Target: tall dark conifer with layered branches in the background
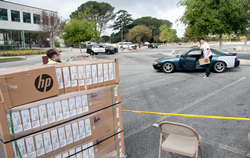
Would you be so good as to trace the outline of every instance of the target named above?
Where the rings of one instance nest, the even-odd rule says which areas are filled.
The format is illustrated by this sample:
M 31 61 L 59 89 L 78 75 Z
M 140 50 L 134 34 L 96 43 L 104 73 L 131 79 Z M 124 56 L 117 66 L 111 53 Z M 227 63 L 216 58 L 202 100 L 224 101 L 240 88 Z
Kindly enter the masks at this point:
M 113 30 L 120 30 L 121 41 L 124 38 L 124 35 L 128 33 L 128 26 L 134 21 L 126 10 L 119 10 L 116 12 L 118 17 L 116 18 L 114 25 L 112 26 Z

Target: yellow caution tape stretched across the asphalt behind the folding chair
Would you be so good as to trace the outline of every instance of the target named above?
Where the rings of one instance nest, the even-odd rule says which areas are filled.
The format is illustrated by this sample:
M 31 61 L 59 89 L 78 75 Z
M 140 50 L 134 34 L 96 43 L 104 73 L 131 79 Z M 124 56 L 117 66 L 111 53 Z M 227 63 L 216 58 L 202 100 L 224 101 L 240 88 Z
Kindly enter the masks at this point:
M 147 112 L 147 111 L 132 111 L 132 110 L 122 110 L 122 112 L 132 112 L 132 113 L 141 113 L 141 114 L 155 114 L 155 115 L 169 115 L 169 116 L 182 116 L 182 117 L 197 117 L 197 118 L 211 118 L 211 119 L 225 119 L 225 120 L 244 120 L 244 121 L 250 121 L 250 118 L 240 118 L 240 117 L 224 117 L 224 116 L 206 116 L 206 115 L 173 114 L 173 113 Z

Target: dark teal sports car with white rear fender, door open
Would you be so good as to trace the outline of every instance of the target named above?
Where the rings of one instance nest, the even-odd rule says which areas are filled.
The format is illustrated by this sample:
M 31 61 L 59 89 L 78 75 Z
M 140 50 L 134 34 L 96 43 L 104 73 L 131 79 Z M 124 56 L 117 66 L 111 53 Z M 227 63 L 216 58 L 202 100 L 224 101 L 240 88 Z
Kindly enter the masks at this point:
M 215 72 L 224 72 L 226 68 L 238 67 L 240 61 L 237 53 L 226 54 L 215 49 L 211 49 L 213 58 L 210 61 L 210 68 Z M 199 64 L 199 59 L 203 58 L 203 53 L 198 48 L 190 49 L 183 54 L 175 57 L 165 57 L 155 60 L 154 69 L 163 70 L 170 73 L 175 70 L 191 70 L 205 69 Z

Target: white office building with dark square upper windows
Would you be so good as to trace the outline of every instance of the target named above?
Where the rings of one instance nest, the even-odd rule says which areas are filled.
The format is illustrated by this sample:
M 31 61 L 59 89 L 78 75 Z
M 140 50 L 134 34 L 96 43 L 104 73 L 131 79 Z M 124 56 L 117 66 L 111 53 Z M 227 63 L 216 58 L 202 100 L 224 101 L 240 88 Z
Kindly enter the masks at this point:
M 0 49 L 42 46 L 41 41 L 31 36 L 38 31 L 39 15 L 43 10 L 55 12 L 0 0 Z

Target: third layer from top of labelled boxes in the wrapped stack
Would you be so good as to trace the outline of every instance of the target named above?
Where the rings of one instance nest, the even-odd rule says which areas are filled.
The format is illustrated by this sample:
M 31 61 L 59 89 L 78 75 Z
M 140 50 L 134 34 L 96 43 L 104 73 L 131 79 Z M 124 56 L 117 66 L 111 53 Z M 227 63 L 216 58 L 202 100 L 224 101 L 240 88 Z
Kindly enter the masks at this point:
M 118 114 L 115 110 L 117 108 L 119 108 Z M 120 132 L 123 131 L 121 121 L 121 104 L 119 104 L 87 117 L 19 138 L 16 142 L 23 157 L 31 155 L 33 155 L 32 157 L 53 157 L 68 149 L 72 150 L 76 146 L 83 145 L 85 142 L 95 142 L 93 145 L 99 144 L 98 148 L 101 150 L 105 146 L 101 148 L 100 141 L 112 137 L 116 133 L 119 133 L 117 140 L 121 137 Z M 111 140 L 114 141 L 114 137 Z M 0 146 L 4 149 L 4 152 L 1 153 L 3 157 L 18 156 L 14 142 L 5 144 L 0 142 Z

